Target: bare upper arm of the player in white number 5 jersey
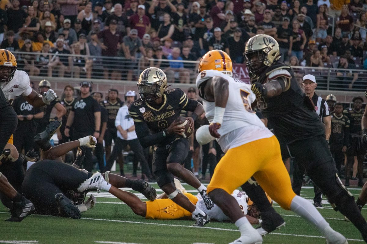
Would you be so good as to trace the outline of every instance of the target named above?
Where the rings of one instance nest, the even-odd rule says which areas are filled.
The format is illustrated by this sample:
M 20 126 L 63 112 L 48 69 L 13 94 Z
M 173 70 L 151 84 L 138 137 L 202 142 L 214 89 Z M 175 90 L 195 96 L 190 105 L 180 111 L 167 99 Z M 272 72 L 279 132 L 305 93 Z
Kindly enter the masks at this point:
M 228 80 L 221 76 L 214 76 L 211 80 L 211 90 L 214 95 L 216 107 L 225 108 L 228 101 Z

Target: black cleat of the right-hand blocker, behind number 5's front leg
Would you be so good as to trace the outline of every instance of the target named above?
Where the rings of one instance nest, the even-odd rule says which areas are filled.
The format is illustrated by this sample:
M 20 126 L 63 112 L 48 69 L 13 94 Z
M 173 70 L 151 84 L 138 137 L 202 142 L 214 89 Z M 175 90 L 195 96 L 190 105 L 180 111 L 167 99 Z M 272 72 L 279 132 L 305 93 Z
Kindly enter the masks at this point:
M 286 225 L 286 221 L 273 209 L 260 213 L 262 222 L 256 230 L 261 236 L 273 232 L 276 229 Z

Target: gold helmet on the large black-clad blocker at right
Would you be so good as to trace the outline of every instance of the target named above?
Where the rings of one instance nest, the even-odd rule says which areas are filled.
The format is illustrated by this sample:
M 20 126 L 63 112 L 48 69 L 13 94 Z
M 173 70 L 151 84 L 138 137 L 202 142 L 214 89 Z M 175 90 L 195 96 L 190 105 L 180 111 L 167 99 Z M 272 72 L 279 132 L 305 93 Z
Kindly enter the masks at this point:
M 260 75 L 280 58 L 279 44 L 270 35 L 255 35 L 248 40 L 243 55 L 250 76 Z

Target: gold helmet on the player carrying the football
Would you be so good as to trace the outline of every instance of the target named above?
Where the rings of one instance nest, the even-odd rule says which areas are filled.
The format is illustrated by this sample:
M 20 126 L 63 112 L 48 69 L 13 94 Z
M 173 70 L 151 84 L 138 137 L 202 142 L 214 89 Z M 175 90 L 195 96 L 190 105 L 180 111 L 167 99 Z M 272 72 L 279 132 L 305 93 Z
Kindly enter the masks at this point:
M 139 76 L 138 90 L 142 101 L 156 100 L 163 96 L 167 87 L 167 76 L 159 68 L 147 68 Z

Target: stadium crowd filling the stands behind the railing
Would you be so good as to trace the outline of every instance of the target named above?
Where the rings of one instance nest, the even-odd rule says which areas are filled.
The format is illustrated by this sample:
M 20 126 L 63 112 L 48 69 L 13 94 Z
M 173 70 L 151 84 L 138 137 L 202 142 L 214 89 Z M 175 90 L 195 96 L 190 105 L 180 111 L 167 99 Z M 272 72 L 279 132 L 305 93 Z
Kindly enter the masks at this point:
M 23 52 L 17 57 L 18 69 L 31 76 L 72 73 L 75 78 L 133 80 L 139 71 L 155 66 L 168 80 L 192 83 L 196 64 L 185 61 L 197 61 L 208 50 L 218 49 L 242 64 L 246 42 L 264 33 L 279 42 L 281 61 L 287 64 L 349 70 L 334 74 L 339 81 L 334 88 L 351 89 L 361 85 L 358 72 L 351 70 L 367 69 L 363 4 L 361 0 L 4 1 L 0 42 L 3 49 Z M 300 78 L 303 74 L 298 72 Z

